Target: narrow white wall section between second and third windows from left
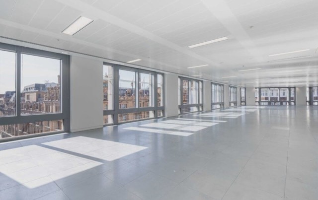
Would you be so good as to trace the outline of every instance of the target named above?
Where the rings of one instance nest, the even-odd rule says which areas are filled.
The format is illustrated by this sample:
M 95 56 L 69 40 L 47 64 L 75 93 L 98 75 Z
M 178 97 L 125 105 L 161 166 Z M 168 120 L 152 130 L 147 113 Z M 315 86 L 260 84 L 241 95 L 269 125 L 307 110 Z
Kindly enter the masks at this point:
M 178 106 L 178 75 L 164 74 L 164 116 L 173 117 L 179 115 Z

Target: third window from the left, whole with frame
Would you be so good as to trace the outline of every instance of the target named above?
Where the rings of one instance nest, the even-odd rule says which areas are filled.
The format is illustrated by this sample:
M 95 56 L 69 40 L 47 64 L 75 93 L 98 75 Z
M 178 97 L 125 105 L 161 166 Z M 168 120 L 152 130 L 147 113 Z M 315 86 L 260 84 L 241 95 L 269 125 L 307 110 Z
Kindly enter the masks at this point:
M 201 111 L 203 106 L 202 81 L 179 77 L 178 85 L 179 114 Z

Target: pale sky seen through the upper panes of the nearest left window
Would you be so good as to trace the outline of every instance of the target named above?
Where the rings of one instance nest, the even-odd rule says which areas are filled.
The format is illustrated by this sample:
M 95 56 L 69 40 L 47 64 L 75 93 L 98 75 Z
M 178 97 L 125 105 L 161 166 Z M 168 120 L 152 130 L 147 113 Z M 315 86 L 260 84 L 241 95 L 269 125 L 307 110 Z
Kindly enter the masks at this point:
M 21 90 L 34 83 L 58 82 L 60 60 L 21 56 Z M 15 90 L 15 53 L 0 50 L 0 94 Z

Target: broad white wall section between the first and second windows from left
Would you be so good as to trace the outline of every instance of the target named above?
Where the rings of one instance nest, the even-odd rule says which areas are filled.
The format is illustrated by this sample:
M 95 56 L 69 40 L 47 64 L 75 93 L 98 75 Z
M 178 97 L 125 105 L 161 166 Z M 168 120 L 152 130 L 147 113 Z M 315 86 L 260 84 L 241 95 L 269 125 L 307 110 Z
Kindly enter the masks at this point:
M 71 57 L 70 131 L 103 127 L 103 63 Z

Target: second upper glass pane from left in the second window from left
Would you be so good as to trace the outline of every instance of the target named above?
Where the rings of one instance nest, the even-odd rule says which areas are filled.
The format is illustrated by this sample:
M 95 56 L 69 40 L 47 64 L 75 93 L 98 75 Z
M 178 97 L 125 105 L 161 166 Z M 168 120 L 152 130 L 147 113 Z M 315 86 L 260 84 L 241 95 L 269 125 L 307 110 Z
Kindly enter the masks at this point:
M 119 69 L 119 108 L 136 108 L 136 72 Z

